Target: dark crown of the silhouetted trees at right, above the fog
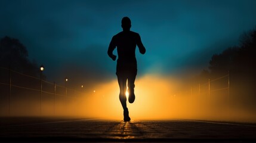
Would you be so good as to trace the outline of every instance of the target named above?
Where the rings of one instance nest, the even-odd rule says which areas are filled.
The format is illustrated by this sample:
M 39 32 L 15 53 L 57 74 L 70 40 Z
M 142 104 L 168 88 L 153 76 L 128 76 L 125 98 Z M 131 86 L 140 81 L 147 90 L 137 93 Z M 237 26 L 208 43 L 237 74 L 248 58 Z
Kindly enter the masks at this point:
M 244 33 L 240 37 L 240 46 L 227 48 L 221 54 L 212 55 L 209 61 L 211 74 L 226 74 L 233 71 L 245 76 L 254 76 L 256 52 L 256 30 Z

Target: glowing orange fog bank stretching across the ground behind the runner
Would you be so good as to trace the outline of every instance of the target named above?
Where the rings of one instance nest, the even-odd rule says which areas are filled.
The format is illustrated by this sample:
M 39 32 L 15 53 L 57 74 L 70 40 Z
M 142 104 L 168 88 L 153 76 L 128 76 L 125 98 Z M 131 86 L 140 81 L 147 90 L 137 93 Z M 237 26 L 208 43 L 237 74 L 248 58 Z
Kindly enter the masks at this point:
M 211 83 L 213 84 L 213 83 Z M 174 77 L 147 74 L 135 81 L 135 102 L 127 106 L 132 120 L 217 120 L 232 122 L 255 122 L 255 108 L 244 104 L 241 97 L 232 93 L 239 89 L 207 92 L 208 83 L 188 86 Z M 206 88 L 204 89 L 203 86 Z M 230 87 L 230 88 L 231 88 Z M 199 94 L 200 90 L 200 94 Z M 237 91 L 239 92 L 239 90 Z M 234 94 L 235 95 L 235 94 Z M 99 119 L 123 119 L 119 101 L 117 80 L 102 83 L 75 96 L 40 95 L 33 92 L 11 98 L 11 113 L 8 114 L 8 99 L 2 98 L 1 116 L 69 116 Z

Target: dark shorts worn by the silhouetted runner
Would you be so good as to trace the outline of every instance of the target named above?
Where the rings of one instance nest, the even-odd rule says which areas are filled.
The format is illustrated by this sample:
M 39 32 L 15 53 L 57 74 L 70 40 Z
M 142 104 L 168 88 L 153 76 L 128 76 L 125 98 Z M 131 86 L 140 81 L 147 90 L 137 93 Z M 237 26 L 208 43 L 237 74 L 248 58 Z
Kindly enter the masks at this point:
M 122 77 L 136 76 L 137 75 L 137 60 L 120 60 L 116 64 L 116 75 Z

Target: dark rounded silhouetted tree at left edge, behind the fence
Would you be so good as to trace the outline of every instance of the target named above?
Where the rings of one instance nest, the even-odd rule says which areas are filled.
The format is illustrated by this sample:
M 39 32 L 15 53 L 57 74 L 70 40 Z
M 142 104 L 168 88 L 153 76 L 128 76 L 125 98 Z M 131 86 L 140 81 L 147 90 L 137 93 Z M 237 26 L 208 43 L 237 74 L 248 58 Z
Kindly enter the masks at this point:
M 14 101 L 27 101 L 28 103 L 32 98 L 39 97 L 39 91 L 29 90 L 41 89 L 41 80 L 31 77 L 40 77 L 39 66 L 37 66 L 35 61 L 31 62 L 29 60 L 26 47 L 18 41 L 18 39 L 10 38 L 8 36 L 0 39 L 0 67 L 5 67 L 7 69 L 11 68 L 14 71 L 18 71 L 17 73 L 14 71 L 9 72 L 9 70 L 0 69 L 0 83 L 5 83 L 0 84 L 1 111 L 7 111 L 4 110 L 4 108 L 8 105 L 8 102 L 10 102 L 9 96 L 11 96 L 12 105 L 18 105 L 15 104 Z M 24 74 L 29 76 L 24 76 Z M 43 77 L 45 76 L 43 75 Z M 8 85 L 10 81 L 12 85 L 11 92 L 10 86 Z M 45 86 L 44 89 L 46 89 Z M 22 102 L 20 103 L 23 104 Z M 26 106 L 25 104 L 23 105 Z M 35 108 L 29 104 L 27 104 L 27 107 Z M 14 111 L 15 109 L 13 108 L 12 110 Z

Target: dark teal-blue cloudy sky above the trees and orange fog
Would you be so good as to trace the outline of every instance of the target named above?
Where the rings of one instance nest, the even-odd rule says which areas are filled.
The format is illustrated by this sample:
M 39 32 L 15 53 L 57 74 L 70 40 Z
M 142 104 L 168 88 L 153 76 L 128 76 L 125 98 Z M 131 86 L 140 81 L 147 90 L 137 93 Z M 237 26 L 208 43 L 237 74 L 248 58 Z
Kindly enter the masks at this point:
M 19 39 L 48 80 L 100 82 L 116 78 L 107 48 L 128 16 L 147 50 L 137 50 L 138 76 L 178 75 L 207 69 L 212 54 L 237 45 L 256 26 L 255 7 L 254 0 L 1 0 L 0 37 Z

